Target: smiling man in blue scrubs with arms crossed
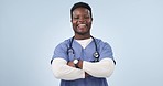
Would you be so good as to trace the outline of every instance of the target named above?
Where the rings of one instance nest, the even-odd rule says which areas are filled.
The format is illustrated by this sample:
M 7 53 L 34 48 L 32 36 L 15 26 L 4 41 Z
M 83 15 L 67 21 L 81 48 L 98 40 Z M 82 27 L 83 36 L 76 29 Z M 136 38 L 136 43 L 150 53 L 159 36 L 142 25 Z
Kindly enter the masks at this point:
M 61 86 L 108 86 L 115 68 L 110 45 L 90 35 L 91 8 L 77 2 L 70 9 L 74 36 L 58 44 L 52 69 Z

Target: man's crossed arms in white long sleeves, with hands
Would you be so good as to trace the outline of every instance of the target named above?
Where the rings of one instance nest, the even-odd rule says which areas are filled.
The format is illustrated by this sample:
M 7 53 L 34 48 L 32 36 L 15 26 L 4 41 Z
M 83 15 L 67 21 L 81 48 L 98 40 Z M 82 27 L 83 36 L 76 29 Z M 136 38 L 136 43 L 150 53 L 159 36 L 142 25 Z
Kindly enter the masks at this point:
M 73 62 L 67 62 L 61 57 L 56 57 L 52 62 L 54 76 L 65 80 L 86 78 L 89 75 L 109 77 L 115 69 L 115 63 L 111 58 L 106 57 L 96 63 L 79 61 L 78 67 L 76 68 Z

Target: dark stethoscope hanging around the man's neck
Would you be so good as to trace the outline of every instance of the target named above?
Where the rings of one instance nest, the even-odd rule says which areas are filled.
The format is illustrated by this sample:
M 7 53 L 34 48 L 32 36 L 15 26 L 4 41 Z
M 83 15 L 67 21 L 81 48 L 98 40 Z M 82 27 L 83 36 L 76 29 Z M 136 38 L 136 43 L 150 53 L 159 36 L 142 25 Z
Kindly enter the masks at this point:
M 93 36 L 91 36 L 91 37 L 93 37 Z M 73 41 L 74 41 L 74 36 L 72 37 L 70 43 L 69 43 L 69 47 L 67 49 L 67 54 L 68 54 L 68 55 L 69 55 L 69 54 L 75 55 L 75 51 L 74 51 L 74 49 L 73 49 Z M 93 56 L 95 57 L 95 60 L 91 61 L 91 62 L 99 62 L 99 56 L 100 56 L 100 54 L 99 54 L 99 52 L 98 52 L 98 50 L 97 50 L 97 43 L 96 43 L 96 41 L 95 41 L 94 37 L 93 37 L 93 41 L 94 41 L 94 44 L 95 44 L 95 53 L 93 54 Z M 74 56 L 74 60 L 75 60 L 75 56 Z

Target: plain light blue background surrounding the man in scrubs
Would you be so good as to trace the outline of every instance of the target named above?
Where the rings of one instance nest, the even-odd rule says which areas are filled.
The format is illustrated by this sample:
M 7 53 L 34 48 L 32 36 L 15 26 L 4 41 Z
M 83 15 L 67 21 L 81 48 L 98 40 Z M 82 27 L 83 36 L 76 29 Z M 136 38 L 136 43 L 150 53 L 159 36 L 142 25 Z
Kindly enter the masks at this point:
M 117 61 L 110 86 L 163 86 L 163 0 L 85 0 L 91 34 Z M 58 86 L 54 47 L 73 36 L 76 0 L 0 0 L 0 86 Z

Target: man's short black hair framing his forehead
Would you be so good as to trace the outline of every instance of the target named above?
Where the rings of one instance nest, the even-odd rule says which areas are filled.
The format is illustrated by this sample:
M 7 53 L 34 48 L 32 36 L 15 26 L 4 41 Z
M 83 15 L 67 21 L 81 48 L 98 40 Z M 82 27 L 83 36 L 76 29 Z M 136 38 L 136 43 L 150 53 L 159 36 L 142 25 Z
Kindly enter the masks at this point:
M 86 3 L 86 2 L 77 2 L 70 9 L 70 18 L 72 19 L 73 19 L 73 11 L 75 9 L 77 9 L 77 8 L 86 8 L 86 9 L 88 9 L 90 11 L 90 18 L 93 17 L 93 14 L 91 14 L 91 8 L 90 8 L 90 6 L 88 3 Z

